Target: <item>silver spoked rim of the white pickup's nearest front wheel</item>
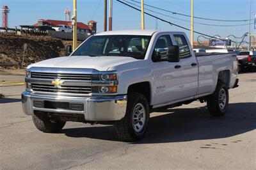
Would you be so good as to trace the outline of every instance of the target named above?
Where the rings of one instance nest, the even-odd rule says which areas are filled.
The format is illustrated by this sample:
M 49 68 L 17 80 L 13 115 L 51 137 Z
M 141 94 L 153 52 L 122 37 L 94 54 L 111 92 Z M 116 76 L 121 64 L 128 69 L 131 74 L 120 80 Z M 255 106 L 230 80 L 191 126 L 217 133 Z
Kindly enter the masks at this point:
M 146 113 L 142 104 L 136 104 L 132 111 L 132 127 L 135 132 L 141 132 L 145 125 Z

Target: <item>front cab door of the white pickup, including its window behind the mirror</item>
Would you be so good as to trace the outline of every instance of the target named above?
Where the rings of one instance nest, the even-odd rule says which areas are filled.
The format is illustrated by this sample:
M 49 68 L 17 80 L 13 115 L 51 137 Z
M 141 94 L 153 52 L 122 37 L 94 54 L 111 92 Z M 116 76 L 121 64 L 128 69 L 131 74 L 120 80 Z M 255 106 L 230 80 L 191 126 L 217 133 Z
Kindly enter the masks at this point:
M 182 77 L 182 72 L 175 68 L 175 66 L 181 65 L 181 63 L 167 61 L 166 54 L 170 45 L 173 45 L 170 35 L 159 35 L 153 46 L 153 105 L 167 104 L 180 98 L 180 86 L 182 86 L 180 77 Z M 154 55 L 160 59 L 155 61 Z

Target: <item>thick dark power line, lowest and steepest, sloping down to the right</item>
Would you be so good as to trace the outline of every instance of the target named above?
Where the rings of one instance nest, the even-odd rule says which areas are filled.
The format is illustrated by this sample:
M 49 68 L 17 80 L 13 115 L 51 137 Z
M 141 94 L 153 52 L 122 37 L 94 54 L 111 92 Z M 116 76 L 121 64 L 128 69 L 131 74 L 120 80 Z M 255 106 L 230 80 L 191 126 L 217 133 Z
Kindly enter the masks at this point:
M 125 4 L 125 6 L 129 6 L 130 8 L 133 8 L 134 10 L 137 10 L 137 11 L 141 12 L 140 9 L 135 8 L 134 6 L 131 6 L 130 4 L 124 3 L 123 1 L 120 1 L 120 0 L 116 0 L 116 1 L 118 1 L 119 3 Z M 170 24 L 171 26 L 177 26 L 177 27 L 180 27 L 180 28 L 185 29 L 185 30 L 187 30 L 187 31 L 191 31 L 191 30 L 188 29 L 187 27 L 179 26 L 178 24 L 174 24 L 173 22 L 170 22 L 170 21 L 168 21 L 168 20 L 161 19 L 161 18 L 156 17 L 155 15 L 152 15 L 152 14 L 147 13 L 147 12 L 144 12 L 144 13 L 147 14 L 147 15 L 149 15 L 150 17 L 154 17 L 155 19 L 158 19 L 158 20 L 161 20 L 161 21 L 163 21 L 163 22 L 166 22 L 166 23 Z M 197 33 L 197 34 L 199 34 L 199 35 L 204 35 L 204 36 L 208 36 L 208 37 L 211 37 L 211 38 L 216 38 L 216 37 L 214 37 L 214 36 L 207 35 L 207 34 L 204 34 L 204 33 L 200 33 L 200 32 L 198 32 L 198 31 L 193 31 L 193 32 L 194 32 L 194 33 Z M 216 39 L 222 40 L 221 38 L 216 38 Z M 231 42 L 234 42 L 234 41 L 231 40 Z M 236 43 L 236 42 L 234 42 L 234 43 Z

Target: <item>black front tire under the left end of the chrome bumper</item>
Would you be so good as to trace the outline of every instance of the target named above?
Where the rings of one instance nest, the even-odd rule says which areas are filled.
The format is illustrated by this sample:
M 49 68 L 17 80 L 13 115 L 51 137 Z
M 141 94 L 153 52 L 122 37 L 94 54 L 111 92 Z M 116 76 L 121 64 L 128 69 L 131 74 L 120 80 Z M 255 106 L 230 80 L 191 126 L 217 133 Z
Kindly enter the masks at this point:
M 65 121 L 60 120 L 50 120 L 44 114 L 34 114 L 32 116 L 35 127 L 45 133 L 56 133 L 60 132 L 60 130 L 65 126 Z

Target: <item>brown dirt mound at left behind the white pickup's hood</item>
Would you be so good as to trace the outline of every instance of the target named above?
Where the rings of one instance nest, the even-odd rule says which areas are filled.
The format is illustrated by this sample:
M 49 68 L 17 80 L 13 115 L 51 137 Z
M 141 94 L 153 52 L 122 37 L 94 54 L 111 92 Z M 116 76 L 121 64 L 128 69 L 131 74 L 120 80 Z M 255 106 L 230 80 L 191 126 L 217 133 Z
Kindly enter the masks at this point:
M 28 48 L 24 56 L 24 66 L 44 59 L 56 58 L 65 55 L 65 45 L 72 42 L 63 42 L 49 36 L 18 36 L 0 34 L 0 66 L 15 66 L 22 63 L 24 43 Z

